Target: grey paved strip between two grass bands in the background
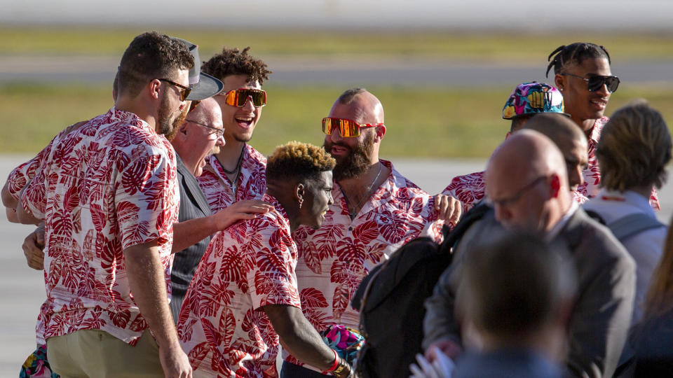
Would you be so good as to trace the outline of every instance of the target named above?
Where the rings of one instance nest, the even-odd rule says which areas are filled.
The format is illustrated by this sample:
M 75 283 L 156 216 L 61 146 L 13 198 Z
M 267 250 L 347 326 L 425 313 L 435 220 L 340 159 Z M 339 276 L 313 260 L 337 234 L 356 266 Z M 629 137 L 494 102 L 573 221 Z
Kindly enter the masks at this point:
M 353 61 L 334 57 L 268 57 L 273 69 L 270 83 L 348 85 L 455 85 L 507 86 L 512 83 L 553 81 L 545 78 L 546 63 L 498 64 L 497 62 L 381 57 Z M 0 83 L 112 83 L 119 57 L 22 57 L 0 55 Z M 612 72 L 622 85 L 670 83 L 671 62 L 614 62 Z

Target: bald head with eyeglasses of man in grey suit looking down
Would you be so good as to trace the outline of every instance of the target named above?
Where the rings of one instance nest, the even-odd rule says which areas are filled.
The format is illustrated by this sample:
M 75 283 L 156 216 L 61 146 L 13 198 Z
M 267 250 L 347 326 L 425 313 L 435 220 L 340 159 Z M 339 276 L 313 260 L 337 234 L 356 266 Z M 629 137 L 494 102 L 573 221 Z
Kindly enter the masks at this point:
M 505 139 L 491 155 L 485 179 L 506 228 L 545 232 L 570 207 L 563 155 L 540 132 L 521 130 Z

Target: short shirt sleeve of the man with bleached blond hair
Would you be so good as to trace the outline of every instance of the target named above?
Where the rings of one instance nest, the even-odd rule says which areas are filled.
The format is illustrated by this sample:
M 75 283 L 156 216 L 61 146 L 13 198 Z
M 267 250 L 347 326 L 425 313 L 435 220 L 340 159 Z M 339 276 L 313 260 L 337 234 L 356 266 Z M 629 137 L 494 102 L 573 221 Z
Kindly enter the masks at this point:
M 255 253 L 254 269 L 247 274 L 252 307 L 287 304 L 301 308 L 289 231 L 271 223 L 259 234 L 261 246 Z

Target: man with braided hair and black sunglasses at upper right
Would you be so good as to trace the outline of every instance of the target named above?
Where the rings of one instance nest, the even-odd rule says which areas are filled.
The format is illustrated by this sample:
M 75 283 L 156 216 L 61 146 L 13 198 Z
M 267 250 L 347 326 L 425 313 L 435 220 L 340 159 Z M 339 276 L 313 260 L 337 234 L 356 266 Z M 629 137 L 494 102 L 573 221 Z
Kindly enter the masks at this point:
M 589 164 L 584 170 L 584 184 L 578 192 L 594 197 L 599 192 L 601 173 L 596 158 L 596 147 L 603 126 L 610 95 L 620 80 L 610 70 L 610 55 L 601 45 L 576 42 L 559 46 L 548 57 L 547 75 L 554 68 L 554 83 L 563 94 L 566 113 L 585 132 L 589 141 Z M 660 210 L 656 190 L 652 190 L 650 205 Z

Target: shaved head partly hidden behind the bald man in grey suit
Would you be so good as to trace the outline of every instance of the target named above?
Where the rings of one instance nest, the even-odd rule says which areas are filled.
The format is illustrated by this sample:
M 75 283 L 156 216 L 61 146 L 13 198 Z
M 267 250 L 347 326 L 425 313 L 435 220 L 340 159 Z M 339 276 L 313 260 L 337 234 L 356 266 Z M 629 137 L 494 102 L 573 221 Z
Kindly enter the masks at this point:
M 566 162 L 569 189 L 577 190 L 584 183 L 583 171 L 589 162 L 587 137 L 580 127 L 563 114 L 540 113 L 524 125 L 524 130 L 541 132 L 556 144 Z

